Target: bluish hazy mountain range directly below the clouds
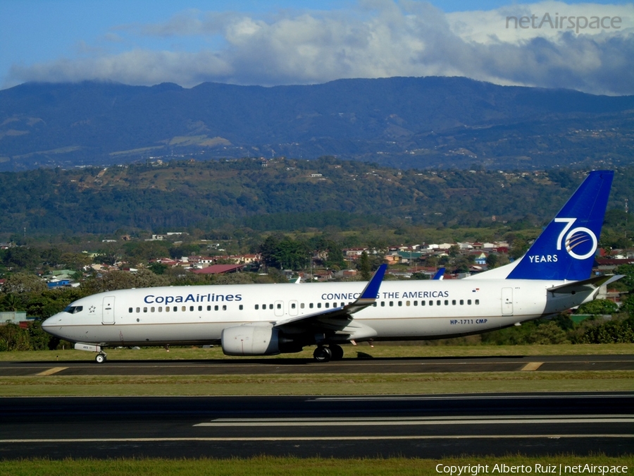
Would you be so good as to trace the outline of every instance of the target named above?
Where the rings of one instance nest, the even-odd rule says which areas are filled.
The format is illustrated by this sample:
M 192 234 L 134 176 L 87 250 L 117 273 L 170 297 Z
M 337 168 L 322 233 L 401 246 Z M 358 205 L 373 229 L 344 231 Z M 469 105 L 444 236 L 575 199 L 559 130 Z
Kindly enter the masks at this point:
M 467 78 L 0 91 L 0 171 L 325 155 L 402 169 L 528 170 L 628 164 L 633 151 L 634 96 Z

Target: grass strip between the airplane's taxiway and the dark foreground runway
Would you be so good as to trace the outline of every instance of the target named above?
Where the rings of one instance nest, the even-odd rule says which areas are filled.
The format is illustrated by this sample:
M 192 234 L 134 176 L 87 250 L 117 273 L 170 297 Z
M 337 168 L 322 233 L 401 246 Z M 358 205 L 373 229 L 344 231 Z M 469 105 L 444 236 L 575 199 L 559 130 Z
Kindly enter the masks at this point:
M 0 378 L 0 396 L 311 396 L 632 390 L 634 370 Z

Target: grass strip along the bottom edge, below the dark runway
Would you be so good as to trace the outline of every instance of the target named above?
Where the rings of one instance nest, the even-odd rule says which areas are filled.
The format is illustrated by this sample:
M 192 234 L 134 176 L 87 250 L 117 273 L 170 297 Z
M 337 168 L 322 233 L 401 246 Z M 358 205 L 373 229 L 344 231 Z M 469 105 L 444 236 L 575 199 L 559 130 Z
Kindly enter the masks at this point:
M 438 466 L 440 465 L 440 466 Z M 478 466 L 479 465 L 479 466 Z M 496 466 L 497 465 L 497 466 Z M 470 467 L 471 470 L 463 475 L 502 475 L 511 473 L 506 468 L 519 467 L 523 470 L 517 473 L 539 474 L 549 466 L 554 466 L 556 474 L 593 474 L 604 476 L 599 470 L 592 468 L 623 468 L 626 474 L 634 466 L 634 456 L 627 455 L 619 458 L 604 455 L 596 456 L 474 456 L 461 458 L 443 458 L 441 460 L 423 458 L 280 458 L 275 456 L 257 456 L 255 458 L 230 459 L 180 459 L 167 460 L 159 458 L 129 458 L 129 459 L 66 459 L 49 460 L 33 458 L 27 460 L 0 461 L 0 475 L 11 476 L 66 476 L 69 474 L 99 475 L 99 476 L 138 476 L 138 475 L 216 475 L 216 476 L 451 476 L 445 468 Z M 572 468 L 577 470 L 573 473 Z M 475 468 L 474 468 L 475 467 Z M 440 468 L 437 470 L 437 468 Z M 519 469 L 518 468 L 518 469 Z M 568 469 L 566 471 L 566 468 Z M 466 469 L 466 468 L 464 468 Z M 478 472 L 475 472 L 475 471 Z M 474 474 L 475 473 L 475 474 Z M 623 474 L 621 472 L 621 474 Z M 457 472 L 454 476 L 457 475 Z

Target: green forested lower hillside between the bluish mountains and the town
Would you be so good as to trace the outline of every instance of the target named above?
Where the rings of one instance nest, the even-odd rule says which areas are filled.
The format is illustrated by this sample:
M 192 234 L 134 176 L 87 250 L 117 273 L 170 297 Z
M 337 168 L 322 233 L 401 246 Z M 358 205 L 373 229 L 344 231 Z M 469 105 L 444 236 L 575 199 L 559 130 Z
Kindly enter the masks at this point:
M 254 230 L 367 224 L 539 226 L 585 171 L 388 169 L 318 160 L 171 161 L 107 169 L 0 173 L 0 240 L 11 233 L 163 233 L 225 224 Z M 616 173 L 609 208 L 623 209 L 634 169 Z

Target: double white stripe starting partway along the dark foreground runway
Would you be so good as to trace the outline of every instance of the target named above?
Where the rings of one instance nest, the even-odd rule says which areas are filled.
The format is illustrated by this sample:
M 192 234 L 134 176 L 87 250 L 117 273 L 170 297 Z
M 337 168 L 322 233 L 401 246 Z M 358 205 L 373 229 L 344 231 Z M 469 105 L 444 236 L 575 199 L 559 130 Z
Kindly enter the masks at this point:
M 500 425 L 564 423 L 634 423 L 634 415 L 584 415 L 583 417 L 377 417 L 377 418 L 218 418 L 194 427 L 386 427 L 409 425 Z

